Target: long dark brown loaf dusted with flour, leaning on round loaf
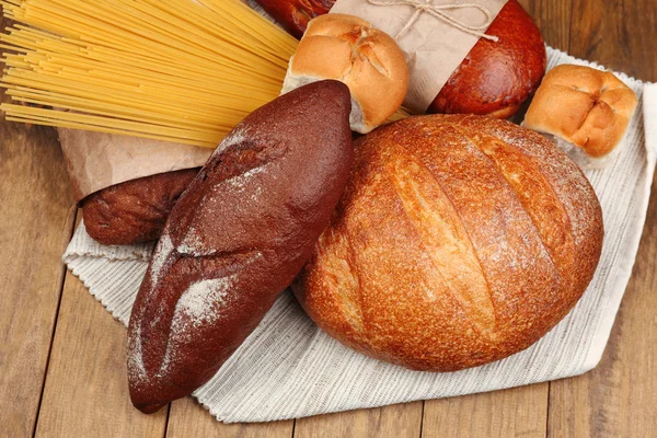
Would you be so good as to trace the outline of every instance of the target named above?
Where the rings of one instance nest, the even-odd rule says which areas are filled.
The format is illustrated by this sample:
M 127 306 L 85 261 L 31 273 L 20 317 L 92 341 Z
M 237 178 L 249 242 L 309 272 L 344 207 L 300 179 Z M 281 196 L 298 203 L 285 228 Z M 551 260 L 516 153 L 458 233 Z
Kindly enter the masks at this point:
M 249 115 L 173 207 L 130 315 L 128 381 L 154 412 L 232 355 L 312 254 L 353 159 L 349 91 L 315 82 Z

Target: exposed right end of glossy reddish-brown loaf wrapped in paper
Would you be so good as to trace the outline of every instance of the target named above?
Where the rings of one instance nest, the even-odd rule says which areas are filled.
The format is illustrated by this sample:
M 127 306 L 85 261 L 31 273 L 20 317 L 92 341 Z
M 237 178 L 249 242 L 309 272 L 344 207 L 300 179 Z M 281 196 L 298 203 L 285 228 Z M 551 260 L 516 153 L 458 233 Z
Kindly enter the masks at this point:
M 451 74 L 429 113 L 508 118 L 537 91 L 548 56 L 541 31 L 517 0 L 509 0 Z

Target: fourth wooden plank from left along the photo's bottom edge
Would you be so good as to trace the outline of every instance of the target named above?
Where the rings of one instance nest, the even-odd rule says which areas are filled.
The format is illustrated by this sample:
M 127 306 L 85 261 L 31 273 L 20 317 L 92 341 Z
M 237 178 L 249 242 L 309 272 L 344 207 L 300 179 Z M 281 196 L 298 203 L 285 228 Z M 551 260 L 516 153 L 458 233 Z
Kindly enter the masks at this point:
M 419 438 L 423 402 L 297 419 L 295 438 Z

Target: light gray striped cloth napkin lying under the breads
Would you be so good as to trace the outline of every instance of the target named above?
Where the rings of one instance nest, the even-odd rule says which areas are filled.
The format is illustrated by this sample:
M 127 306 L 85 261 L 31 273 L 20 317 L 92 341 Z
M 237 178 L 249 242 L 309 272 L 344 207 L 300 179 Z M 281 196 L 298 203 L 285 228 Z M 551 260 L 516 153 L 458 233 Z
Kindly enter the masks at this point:
M 549 66 L 558 64 L 590 65 L 549 48 Z M 596 367 L 632 273 L 657 153 L 657 89 L 618 76 L 644 105 L 613 163 L 603 171 L 587 171 L 604 215 L 602 258 L 584 298 L 541 341 L 480 368 L 453 373 L 410 371 L 332 339 L 286 291 L 194 396 L 220 420 L 267 422 L 493 391 L 581 374 Z M 127 324 L 150 253 L 151 245 L 100 245 L 81 224 L 64 261 L 107 311 Z

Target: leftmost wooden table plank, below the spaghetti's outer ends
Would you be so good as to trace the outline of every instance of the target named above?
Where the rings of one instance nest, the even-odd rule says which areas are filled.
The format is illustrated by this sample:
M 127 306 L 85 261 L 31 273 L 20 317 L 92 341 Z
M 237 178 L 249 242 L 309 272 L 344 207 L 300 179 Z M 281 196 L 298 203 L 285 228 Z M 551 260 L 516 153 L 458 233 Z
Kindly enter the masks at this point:
M 1 120 L 0 175 L 0 435 L 26 437 L 38 411 L 74 209 L 53 129 Z

